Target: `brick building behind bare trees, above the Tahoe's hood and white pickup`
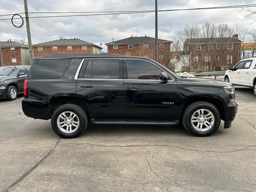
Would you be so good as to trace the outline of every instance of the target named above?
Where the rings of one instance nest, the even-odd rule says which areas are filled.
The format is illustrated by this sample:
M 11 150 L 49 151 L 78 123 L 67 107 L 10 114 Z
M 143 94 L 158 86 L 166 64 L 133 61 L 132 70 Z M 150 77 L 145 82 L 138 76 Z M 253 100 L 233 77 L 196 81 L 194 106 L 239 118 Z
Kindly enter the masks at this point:
M 235 34 L 225 38 L 186 39 L 184 52 L 189 55 L 190 71 L 226 70 L 240 60 L 242 41 Z

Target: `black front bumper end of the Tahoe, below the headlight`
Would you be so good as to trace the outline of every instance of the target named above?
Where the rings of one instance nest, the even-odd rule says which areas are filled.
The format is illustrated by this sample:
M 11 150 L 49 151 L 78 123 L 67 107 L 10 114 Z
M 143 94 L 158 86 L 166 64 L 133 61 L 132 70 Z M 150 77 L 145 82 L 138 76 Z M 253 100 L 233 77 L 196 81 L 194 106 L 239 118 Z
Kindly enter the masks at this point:
M 224 119 L 224 128 L 230 128 L 232 121 L 236 117 L 238 110 L 238 104 L 236 102 L 228 102 L 228 105 L 225 109 L 225 119 Z

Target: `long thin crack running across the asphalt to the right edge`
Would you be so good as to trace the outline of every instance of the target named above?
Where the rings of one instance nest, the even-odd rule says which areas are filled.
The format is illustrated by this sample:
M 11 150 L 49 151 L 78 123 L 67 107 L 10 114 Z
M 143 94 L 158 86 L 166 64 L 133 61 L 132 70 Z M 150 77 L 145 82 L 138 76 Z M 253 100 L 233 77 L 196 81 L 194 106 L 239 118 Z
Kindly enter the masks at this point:
M 246 150 L 249 147 L 256 147 L 256 145 L 250 145 L 246 146 L 242 149 L 238 150 L 232 150 L 232 151 L 209 151 L 209 150 L 196 150 L 196 149 L 186 149 L 182 148 L 180 146 L 176 145 L 170 145 L 170 144 L 144 144 L 144 145 L 99 145 L 99 144 L 90 144 L 90 143 L 60 143 L 59 145 L 89 145 L 89 146 L 97 146 L 97 147 L 144 147 L 144 146 L 157 146 L 157 147 L 163 147 L 163 146 L 170 146 L 170 147 L 176 147 L 184 151 L 194 151 L 194 152 L 210 152 L 210 153 L 232 153 L 232 152 L 238 152 Z

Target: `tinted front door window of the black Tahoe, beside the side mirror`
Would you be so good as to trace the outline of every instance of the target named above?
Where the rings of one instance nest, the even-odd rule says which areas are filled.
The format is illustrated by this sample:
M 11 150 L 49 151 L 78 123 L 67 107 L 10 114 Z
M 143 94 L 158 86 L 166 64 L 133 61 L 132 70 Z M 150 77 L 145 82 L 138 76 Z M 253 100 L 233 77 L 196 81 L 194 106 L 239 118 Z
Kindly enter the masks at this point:
M 128 79 L 157 80 L 162 70 L 157 66 L 139 60 L 127 60 Z

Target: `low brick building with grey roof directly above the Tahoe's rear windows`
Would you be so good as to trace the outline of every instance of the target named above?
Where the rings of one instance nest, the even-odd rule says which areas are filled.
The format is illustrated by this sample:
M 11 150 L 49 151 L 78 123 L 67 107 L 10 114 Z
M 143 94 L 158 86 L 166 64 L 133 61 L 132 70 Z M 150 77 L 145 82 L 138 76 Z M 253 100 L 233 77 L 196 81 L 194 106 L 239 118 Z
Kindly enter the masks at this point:
M 45 54 L 101 54 L 102 47 L 78 38 L 58 39 L 32 45 L 34 57 Z

